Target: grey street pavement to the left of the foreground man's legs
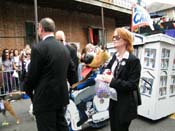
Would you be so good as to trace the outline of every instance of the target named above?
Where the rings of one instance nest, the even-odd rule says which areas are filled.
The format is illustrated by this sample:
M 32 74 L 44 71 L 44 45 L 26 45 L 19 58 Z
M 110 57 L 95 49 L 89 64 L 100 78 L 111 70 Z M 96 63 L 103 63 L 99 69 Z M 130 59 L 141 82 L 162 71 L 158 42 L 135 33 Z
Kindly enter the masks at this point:
M 28 113 L 29 106 L 31 104 L 30 99 L 26 100 L 17 100 L 11 102 L 17 116 L 20 118 L 20 124 L 16 124 L 15 119 L 8 113 L 7 121 L 9 122 L 8 126 L 0 125 L 0 131 L 37 131 L 36 123 L 33 118 Z M 0 124 L 5 120 L 5 117 L 0 114 Z

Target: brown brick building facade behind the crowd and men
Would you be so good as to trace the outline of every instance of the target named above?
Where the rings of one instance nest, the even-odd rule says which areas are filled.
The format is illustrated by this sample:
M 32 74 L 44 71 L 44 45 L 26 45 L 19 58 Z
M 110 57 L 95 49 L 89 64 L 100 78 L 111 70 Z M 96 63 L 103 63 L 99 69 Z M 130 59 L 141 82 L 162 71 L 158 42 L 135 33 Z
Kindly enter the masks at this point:
M 101 15 L 38 6 L 38 19 L 51 17 L 57 30 L 63 30 L 67 41 L 80 43 L 80 49 L 89 42 L 89 27 L 102 31 Z M 25 44 L 35 43 L 34 6 L 11 1 L 0 2 L 0 52 L 4 48 L 22 49 Z M 105 37 L 111 42 L 116 27 L 115 17 L 104 17 Z

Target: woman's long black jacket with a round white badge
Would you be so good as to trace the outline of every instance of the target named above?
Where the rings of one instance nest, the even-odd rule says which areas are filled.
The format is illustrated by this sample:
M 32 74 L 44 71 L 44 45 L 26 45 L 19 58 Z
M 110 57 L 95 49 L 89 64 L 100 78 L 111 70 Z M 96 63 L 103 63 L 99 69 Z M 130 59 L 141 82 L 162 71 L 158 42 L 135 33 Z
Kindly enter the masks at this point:
M 111 69 L 116 55 L 110 60 L 107 68 Z M 127 122 L 137 117 L 137 101 L 134 92 L 138 91 L 140 80 L 141 64 L 134 55 L 129 54 L 128 59 L 121 61 L 120 68 L 116 76 L 112 79 L 110 87 L 116 89 L 118 101 L 110 100 L 109 110 L 113 106 L 118 106 L 119 120 Z

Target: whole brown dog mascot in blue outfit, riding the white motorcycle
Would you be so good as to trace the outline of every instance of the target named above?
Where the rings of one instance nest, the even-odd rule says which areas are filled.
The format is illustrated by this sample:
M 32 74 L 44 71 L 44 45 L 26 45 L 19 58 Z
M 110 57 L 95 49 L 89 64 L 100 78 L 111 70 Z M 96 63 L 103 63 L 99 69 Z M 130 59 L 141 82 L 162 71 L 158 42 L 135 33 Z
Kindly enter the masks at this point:
M 81 90 L 88 86 L 95 84 L 95 78 L 98 73 L 100 73 L 100 67 L 105 64 L 109 58 L 109 54 L 106 50 L 101 49 L 98 46 L 92 44 L 87 44 L 85 47 L 85 53 L 83 54 L 83 62 L 85 67 L 82 70 L 81 75 L 83 79 L 72 85 L 73 90 Z M 97 71 L 98 70 L 98 71 Z M 85 112 L 86 104 L 81 101 L 77 108 L 80 113 L 80 120 L 77 122 L 77 126 L 82 125 L 88 120 L 88 116 Z

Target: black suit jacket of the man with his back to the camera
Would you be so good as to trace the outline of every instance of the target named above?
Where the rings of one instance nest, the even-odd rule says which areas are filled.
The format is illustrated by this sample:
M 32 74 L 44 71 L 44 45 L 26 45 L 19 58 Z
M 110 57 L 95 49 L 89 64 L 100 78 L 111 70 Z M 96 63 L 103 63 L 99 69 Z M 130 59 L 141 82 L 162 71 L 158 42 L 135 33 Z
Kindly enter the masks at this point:
M 68 49 L 54 37 L 32 47 L 26 92 L 32 97 L 34 113 L 52 111 L 69 103 L 67 70 Z M 34 94 L 33 94 L 34 93 Z

